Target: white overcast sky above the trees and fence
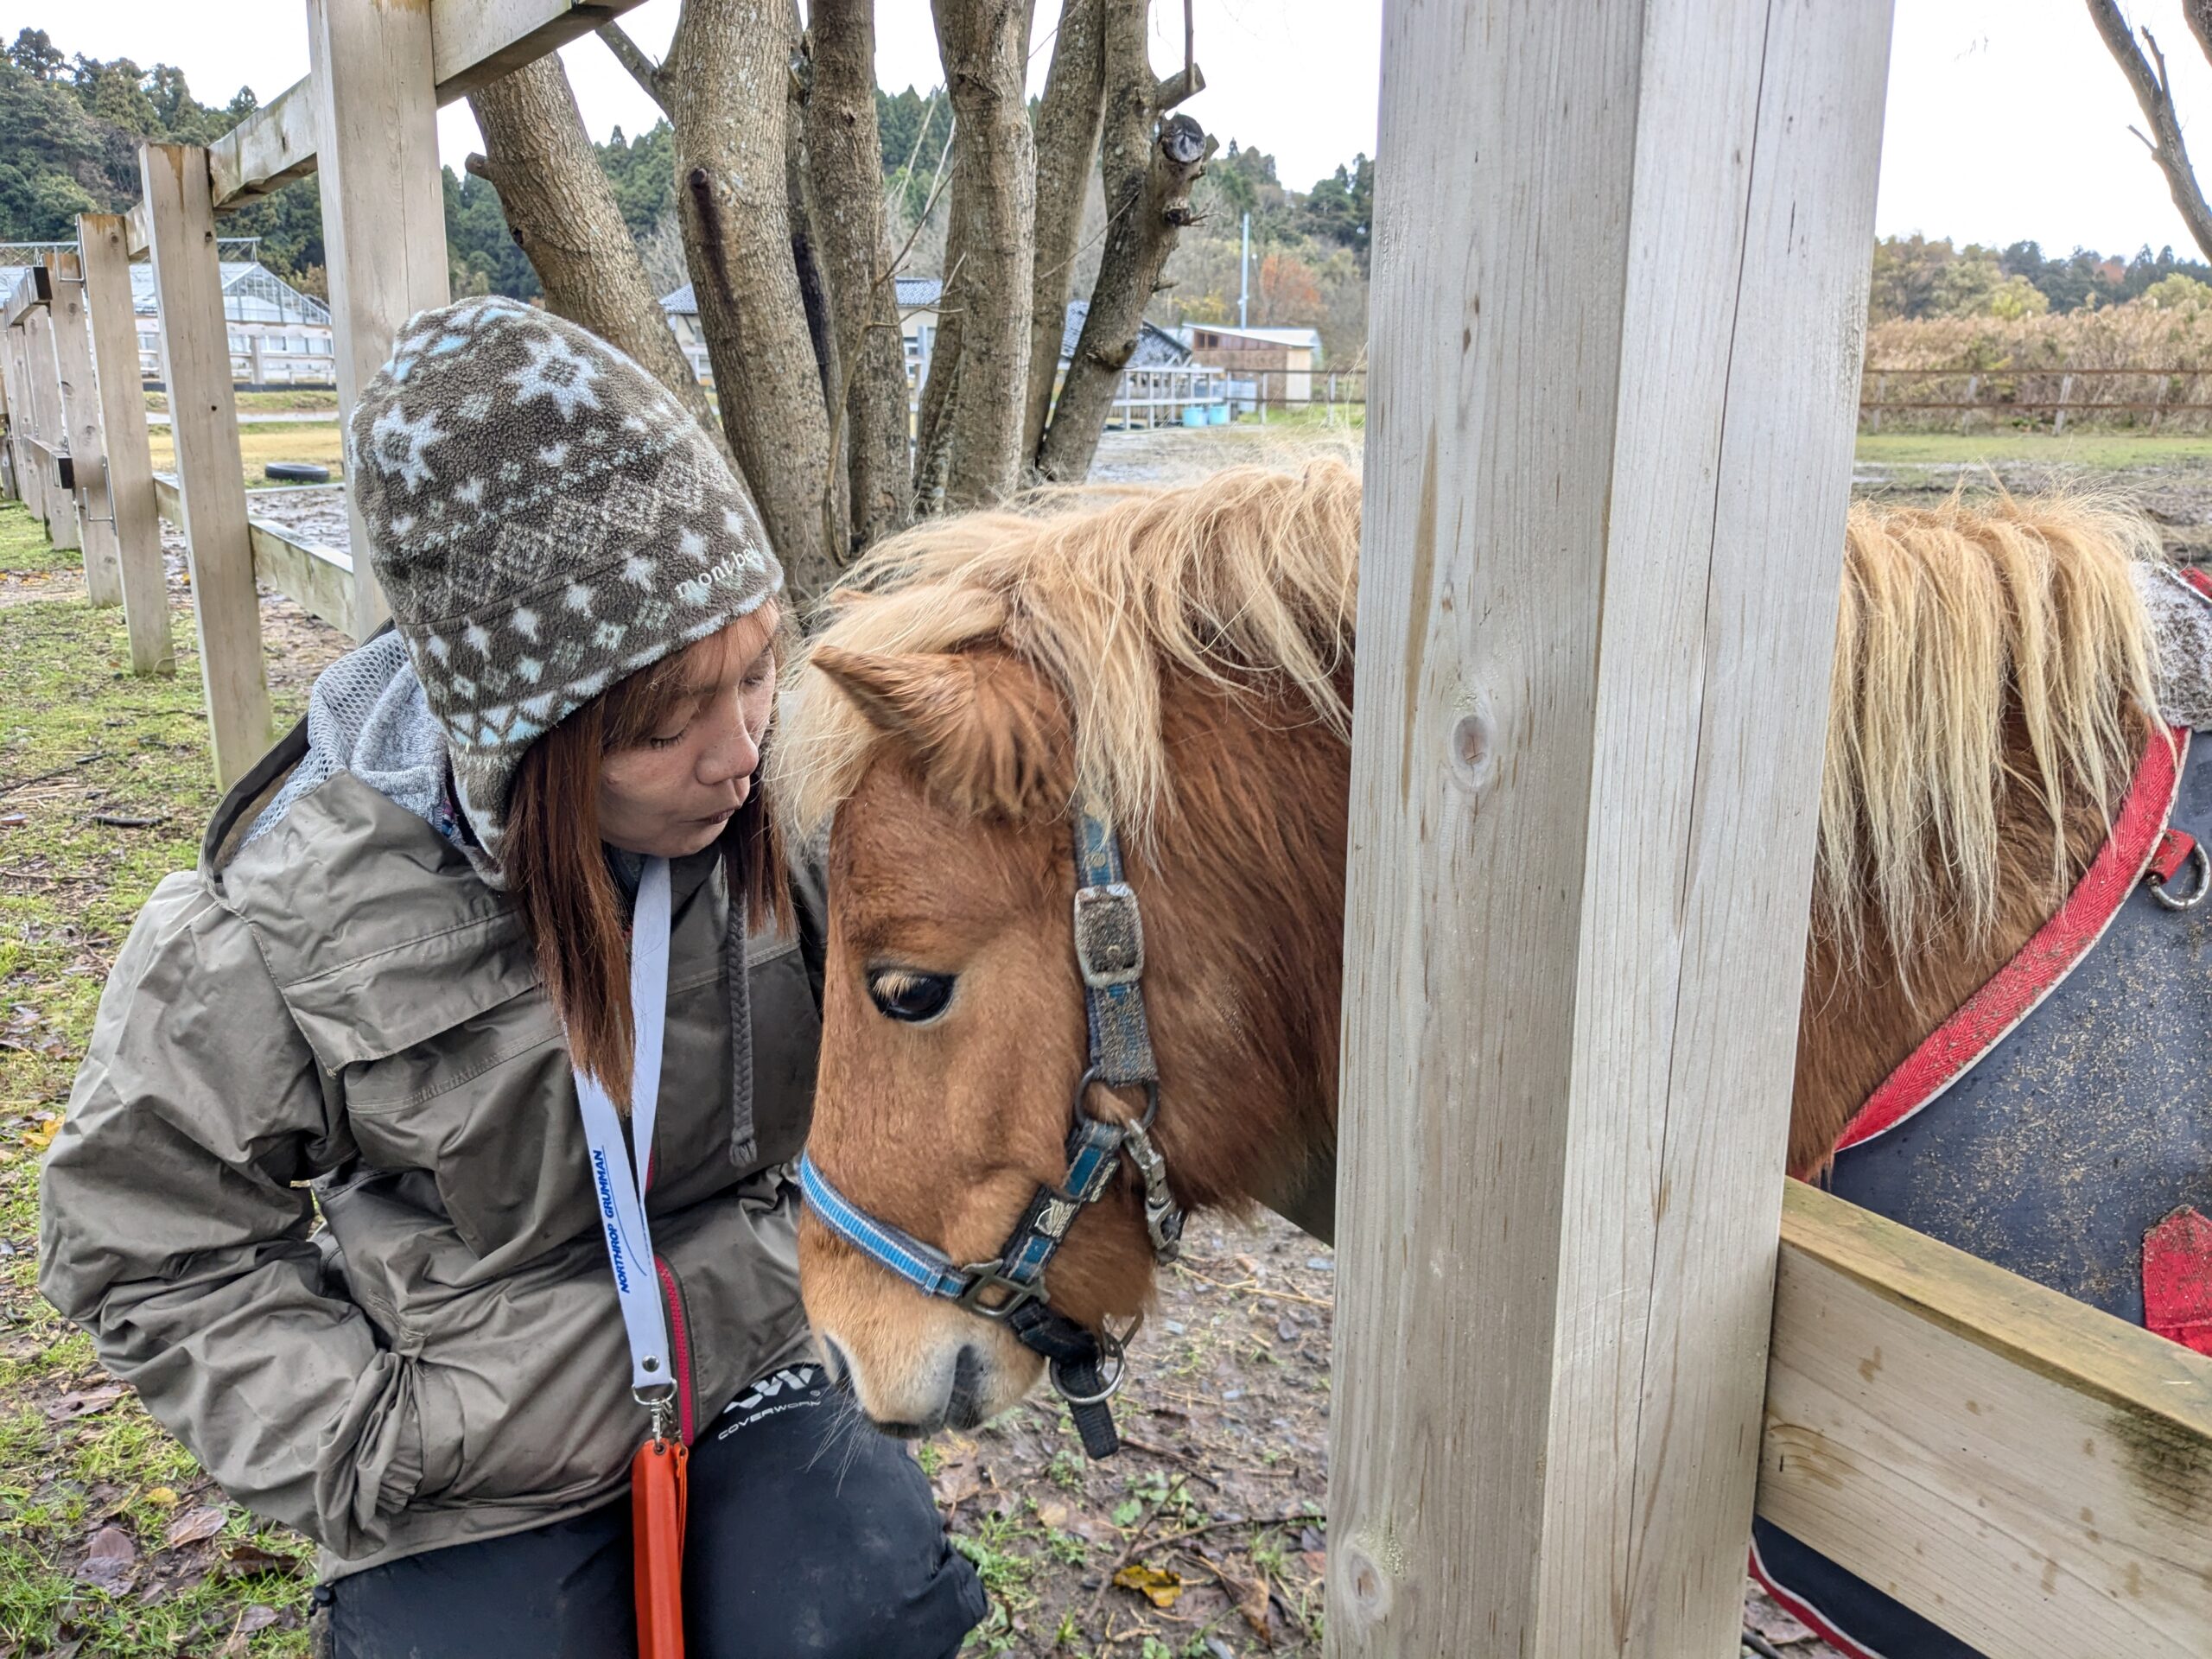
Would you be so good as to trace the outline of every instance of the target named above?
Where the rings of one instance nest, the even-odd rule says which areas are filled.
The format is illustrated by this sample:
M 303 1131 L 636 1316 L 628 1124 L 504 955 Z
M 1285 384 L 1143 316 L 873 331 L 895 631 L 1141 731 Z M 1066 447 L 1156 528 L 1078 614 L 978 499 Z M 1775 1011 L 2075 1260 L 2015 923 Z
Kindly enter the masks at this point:
M 1832 0 L 1858 4 L 1860 0 Z M 2159 35 L 2183 117 L 2201 133 L 2212 184 L 2212 66 L 2181 22 L 2179 0 L 2124 0 Z M 659 53 L 679 0 L 646 0 L 630 33 Z M 1310 186 L 1374 150 L 1380 60 L 1378 0 L 1194 0 L 1197 55 L 1210 86 L 1188 106 L 1208 131 L 1274 153 L 1285 184 Z M 2042 241 L 2135 252 L 2188 234 L 2143 146 L 2126 82 L 2104 53 L 2081 0 L 1898 0 L 1889 62 L 1889 126 L 1876 226 L 1955 241 Z M 1040 4 L 1042 18 L 1053 7 Z M 1155 7 L 1152 60 L 1181 60 L 1181 7 Z M 878 0 L 878 80 L 927 91 L 938 69 L 925 0 Z M 301 0 L 0 0 L 0 33 L 46 29 L 66 53 L 179 64 L 192 93 L 263 100 L 307 73 Z M 584 38 L 564 53 L 584 122 L 650 126 L 653 106 L 606 49 Z M 1031 82 L 1042 84 L 1051 29 L 1040 20 Z M 478 146 L 467 104 L 440 117 L 451 166 Z

